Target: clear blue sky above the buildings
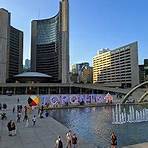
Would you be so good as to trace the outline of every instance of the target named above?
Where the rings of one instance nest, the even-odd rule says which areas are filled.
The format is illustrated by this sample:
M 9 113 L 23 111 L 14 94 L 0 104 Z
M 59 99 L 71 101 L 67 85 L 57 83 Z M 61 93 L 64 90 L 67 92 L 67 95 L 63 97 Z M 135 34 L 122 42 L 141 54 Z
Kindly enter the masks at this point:
M 148 58 L 147 0 L 69 0 L 70 61 L 92 63 L 100 48 L 138 41 L 139 63 Z M 0 0 L 11 12 L 11 25 L 24 32 L 24 58 L 30 58 L 31 20 L 49 18 L 59 0 Z

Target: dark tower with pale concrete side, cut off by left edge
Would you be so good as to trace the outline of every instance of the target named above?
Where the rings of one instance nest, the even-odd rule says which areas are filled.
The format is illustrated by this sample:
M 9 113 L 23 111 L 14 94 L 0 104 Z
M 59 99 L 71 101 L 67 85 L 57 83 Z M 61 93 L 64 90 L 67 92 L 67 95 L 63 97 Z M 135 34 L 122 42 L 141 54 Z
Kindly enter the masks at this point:
M 0 9 L 0 83 L 12 82 L 23 68 L 23 32 L 12 27 L 10 13 Z

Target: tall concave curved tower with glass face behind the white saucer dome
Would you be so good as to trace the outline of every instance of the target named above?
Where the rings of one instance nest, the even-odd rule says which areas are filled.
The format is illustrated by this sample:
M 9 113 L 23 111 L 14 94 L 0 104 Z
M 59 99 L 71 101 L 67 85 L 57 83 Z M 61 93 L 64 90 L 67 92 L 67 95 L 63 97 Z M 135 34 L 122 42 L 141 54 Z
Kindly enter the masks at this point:
M 49 19 L 33 20 L 31 71 L 52 76 L 54 82 L 69 80 L 69 2 L 60 1 L 59 12 Z

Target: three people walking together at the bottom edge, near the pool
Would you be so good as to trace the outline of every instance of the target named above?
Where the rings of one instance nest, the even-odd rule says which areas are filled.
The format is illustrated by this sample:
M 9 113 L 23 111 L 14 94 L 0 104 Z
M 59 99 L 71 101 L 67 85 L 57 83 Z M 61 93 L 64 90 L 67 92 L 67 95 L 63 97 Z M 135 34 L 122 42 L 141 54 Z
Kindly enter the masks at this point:
M 77 148 L 77 141 L 76 134 L 73 134 L 72 131 L 69 130 L 68 133 L 66 133 L 66 148 Z M 56 140 L 56 148 L 63 148 L 63 142 L 60 136 L 58 136 L 58 139 Z

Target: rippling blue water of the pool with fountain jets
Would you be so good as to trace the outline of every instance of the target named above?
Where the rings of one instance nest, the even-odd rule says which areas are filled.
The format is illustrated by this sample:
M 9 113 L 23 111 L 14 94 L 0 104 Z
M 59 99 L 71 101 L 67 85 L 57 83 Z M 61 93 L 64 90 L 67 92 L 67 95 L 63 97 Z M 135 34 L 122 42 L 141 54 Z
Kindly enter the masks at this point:
M 50 111 L 50 115 L 89 143 L 97 145 L 98 148 L 107 148 L 110 146 L 112 131 L 117 135 L 119 147 L 148 141 L 147 122 L 112 124 L 113 119 L 117 118 L 116 113 L 113 114 L 113 110 L 121 113 L 120 116 L 118 114 L 119 121 L 128 119 L 130 121 L 134 117 L 136 118 L 136 111 L 139 112 L 137 119 L 142 120 L 142 115 L 144 119 L 143 109 L 140 106 L 120 106 L 118 109 L 116 106 L 107 106 L 53 110 Z M 133 110 L 135 114 L 133 114 Z

